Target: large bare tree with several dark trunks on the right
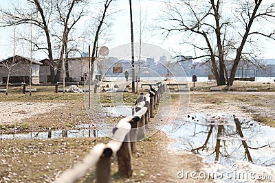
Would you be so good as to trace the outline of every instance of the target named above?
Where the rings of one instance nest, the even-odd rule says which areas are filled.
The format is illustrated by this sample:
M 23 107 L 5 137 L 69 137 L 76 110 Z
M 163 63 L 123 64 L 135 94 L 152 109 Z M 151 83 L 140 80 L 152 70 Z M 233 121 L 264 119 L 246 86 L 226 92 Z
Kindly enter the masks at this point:
M 210 62 L 217 85 L 232 86 L 239 61 L 243 58 L 256 60 L 254 35 L 274 39 L 274 30 L 263 32 L 252 27 L 256 21 L 274 19 L 274 3 L 263 4 L 262 0 L 234 1 L 232 10 L 225 8 L 225 1 L 173 1 L 167 3 L 162 21 L 168 23 L 159 26 L 166 37 L 173 33 L 184 33 L 183 42 L 194 47 L 199 53 L 192 59 L 205 58 Z M 234 10 L 235 12 L 234 12 Z M 186 14 L 187 12 L 187 14 Z M 234 14 L 232 14 L 234 12 Z M 265 30 L 266 31 L 266 30 Z M 254 36 L 254 37 L 253 37 Z M 225 60 L 234 60 L 230 72 L 225 69 Z M 226 80 L 225 80 L 226 78 Z

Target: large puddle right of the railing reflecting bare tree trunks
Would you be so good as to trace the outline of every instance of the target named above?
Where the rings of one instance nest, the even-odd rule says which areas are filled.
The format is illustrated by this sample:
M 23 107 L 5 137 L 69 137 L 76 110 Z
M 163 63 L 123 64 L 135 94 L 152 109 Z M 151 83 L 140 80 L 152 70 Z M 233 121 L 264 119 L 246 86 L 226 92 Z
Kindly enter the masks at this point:
M 206 157 L 223 165 L 248 161 L 275 167 L 275 129 L 251 119 L 230 114 L 188 114 L 184 121 L 165 125 L 162 130 L 177 138 L 177 150 Z

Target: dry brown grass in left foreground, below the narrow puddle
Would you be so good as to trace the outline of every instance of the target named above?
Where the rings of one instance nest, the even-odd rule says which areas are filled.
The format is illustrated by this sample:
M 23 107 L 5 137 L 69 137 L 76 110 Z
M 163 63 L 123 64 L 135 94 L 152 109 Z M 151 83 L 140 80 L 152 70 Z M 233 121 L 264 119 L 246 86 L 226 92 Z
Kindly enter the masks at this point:
M 0 182 L 51 182 L 108 138 L 1 140 Z

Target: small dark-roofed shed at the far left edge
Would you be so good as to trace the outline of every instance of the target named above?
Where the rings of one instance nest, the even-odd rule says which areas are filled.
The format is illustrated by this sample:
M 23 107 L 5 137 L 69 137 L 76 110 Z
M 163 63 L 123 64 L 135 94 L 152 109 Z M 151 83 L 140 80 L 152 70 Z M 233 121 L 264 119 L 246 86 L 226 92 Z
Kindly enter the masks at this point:
M 6 83 L 10 69 L 10 83 L 30 83 L 30 65 L 32 63 L 32 83 L 39 84 L 41 62 L 23 56 L 14 56 L 0 62 L 0 82 Z

